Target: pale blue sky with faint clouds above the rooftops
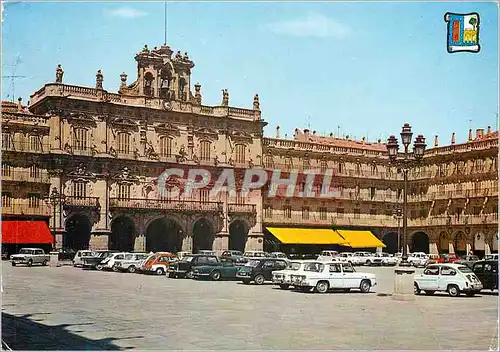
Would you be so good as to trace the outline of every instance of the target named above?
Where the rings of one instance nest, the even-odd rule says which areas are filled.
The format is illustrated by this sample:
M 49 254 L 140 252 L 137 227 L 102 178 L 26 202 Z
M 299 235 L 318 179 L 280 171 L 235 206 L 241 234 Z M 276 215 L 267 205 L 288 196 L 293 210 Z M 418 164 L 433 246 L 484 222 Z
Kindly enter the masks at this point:
M 478 12 L 481 52 L 446 51 L 446 12 Z M 12 3 L 5 5 L 3 75 L 22 75 L 24 101 L 55 79 L 116 91 L 135 80 L 134 55 L 164 42 L 164 3 Z M 448 144 L 469 128 L 497 127 L 498 8 L 491 3 L 172 3 L 167 43 L 187 51 L 203 103 L 252 106 L 259 93 L 266 135 L 276 125 L 373 141 L 414 133 Z M 18 61 L 15 73 L 12 64 Z M 10 100 L 9 79 L 2 98 Z M 194 88 L 191 87 L 193 90 Z M 339 127 L 340 126 L 340 127 Z

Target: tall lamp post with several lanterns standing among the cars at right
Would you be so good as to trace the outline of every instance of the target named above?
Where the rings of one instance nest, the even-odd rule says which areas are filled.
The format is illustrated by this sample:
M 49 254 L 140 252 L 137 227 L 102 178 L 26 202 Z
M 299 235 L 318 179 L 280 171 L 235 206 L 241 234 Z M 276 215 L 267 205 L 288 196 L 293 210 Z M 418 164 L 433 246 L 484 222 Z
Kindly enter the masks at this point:
M 396 165 L 403 172 L 404 191 L 403 191 L 403 255 L 400 266 L 410 266 L 408 263 L 408 171 L 410 168 L 419 163 L 425 152 L 425 138 L 419 134 L 413 143 L 413 152 L 409 151 L 411 144 L 411 126 L 405 123 L 401 130 L 401 140 L 404 146 L 404 153 L 398 153 L 399 145 L 395 136 L 390 136 L 387 141 L 387 151 L 389 152 L 389 160 L 393 165 Z

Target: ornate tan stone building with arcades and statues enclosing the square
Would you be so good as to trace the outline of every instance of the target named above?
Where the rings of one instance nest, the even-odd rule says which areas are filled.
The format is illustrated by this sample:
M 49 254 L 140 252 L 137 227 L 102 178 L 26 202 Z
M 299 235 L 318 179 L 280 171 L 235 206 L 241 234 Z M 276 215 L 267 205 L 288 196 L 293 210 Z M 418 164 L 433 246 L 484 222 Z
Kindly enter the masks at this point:
M 29 109 L 2 104 L 2 218 L 50 219 L 57 246 L 74 249 L 256 250 L 271 225 L 369 228 L 394 247 L 402 175 L 381 141 L 300 129 L 288 140 L 279 128 L 265 138 L 257 94 L 251 109 L 231 107 L 227 89 L 220 105 L 206 106 L 187 53 L 145 46 L 135 60 L 137 79 L 127 84 L 122 73 L 118 93 L 103 89 L 101 70 L 95 88 L 65 84 L 59 65 Z M 413 250 L 497 250 L 498 135 L 471 133 L 444 147 L 436 137 L 410 173 Z M 213 177 L 234 169 L 241 187 L 252 167 L 296 169 L 302 180 L 308 169 L 332 169 L 339 195 L 211 197 L 213 181 L 189 197 L 158 188 L 167 168 L 203 168 Z M 55 209 L 44 201 L 54 188 L 64 195 Z

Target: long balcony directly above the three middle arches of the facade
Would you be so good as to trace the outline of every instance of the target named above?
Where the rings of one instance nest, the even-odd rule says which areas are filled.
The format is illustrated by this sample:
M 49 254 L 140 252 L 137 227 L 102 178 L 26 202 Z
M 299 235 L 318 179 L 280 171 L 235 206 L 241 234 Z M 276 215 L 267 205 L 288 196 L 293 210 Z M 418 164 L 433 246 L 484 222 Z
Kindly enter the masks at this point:
M 141 210 L 171 210 L 177 212 L 217 213 L 223 211 L 222 202 L 201 202 L 195 200 L 110 198 L 111 208 L 128 208 Z

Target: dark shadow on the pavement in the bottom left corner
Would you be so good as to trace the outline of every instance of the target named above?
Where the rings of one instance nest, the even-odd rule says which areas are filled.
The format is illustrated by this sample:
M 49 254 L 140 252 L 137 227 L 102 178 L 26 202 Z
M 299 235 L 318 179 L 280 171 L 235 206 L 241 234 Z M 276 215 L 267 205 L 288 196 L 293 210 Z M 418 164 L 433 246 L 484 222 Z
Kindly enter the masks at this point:
M 31 314 L 14 316 L 2 313 L 2 340 L 12 350 L 126 350 L 134 347 L 120 347 L 113 344 L 114 340 L 122 338 L 104 338 L 92 340 L 74 334 L 65 328 L 71 325 L 62 324 L 45 325 L 35 322 L 30 318 Z M 141 338 L 142 336 L 131 336 L 129 338 Z

